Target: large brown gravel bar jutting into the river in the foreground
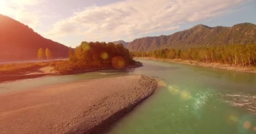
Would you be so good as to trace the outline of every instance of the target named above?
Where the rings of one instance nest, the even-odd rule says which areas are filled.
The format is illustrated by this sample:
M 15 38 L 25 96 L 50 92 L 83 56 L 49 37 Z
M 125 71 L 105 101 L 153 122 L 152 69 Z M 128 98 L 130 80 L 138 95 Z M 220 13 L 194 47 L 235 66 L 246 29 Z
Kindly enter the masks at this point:
M 144 75 L 109 77 L 0 95 L 1 134 L 97 134 L 152 95 Z

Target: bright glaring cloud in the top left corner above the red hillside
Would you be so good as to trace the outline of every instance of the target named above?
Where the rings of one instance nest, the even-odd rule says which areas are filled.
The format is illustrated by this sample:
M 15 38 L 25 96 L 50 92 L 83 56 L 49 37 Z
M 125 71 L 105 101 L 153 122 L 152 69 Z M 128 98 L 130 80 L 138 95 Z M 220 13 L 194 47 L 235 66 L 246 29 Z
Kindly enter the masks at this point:
M 37 5 L 42 1 L 43 0 L 0 0 L 0 13 L 35 28 L 40 23 L 40 16 L 38 13 L 27 10 L 27 7 Z

